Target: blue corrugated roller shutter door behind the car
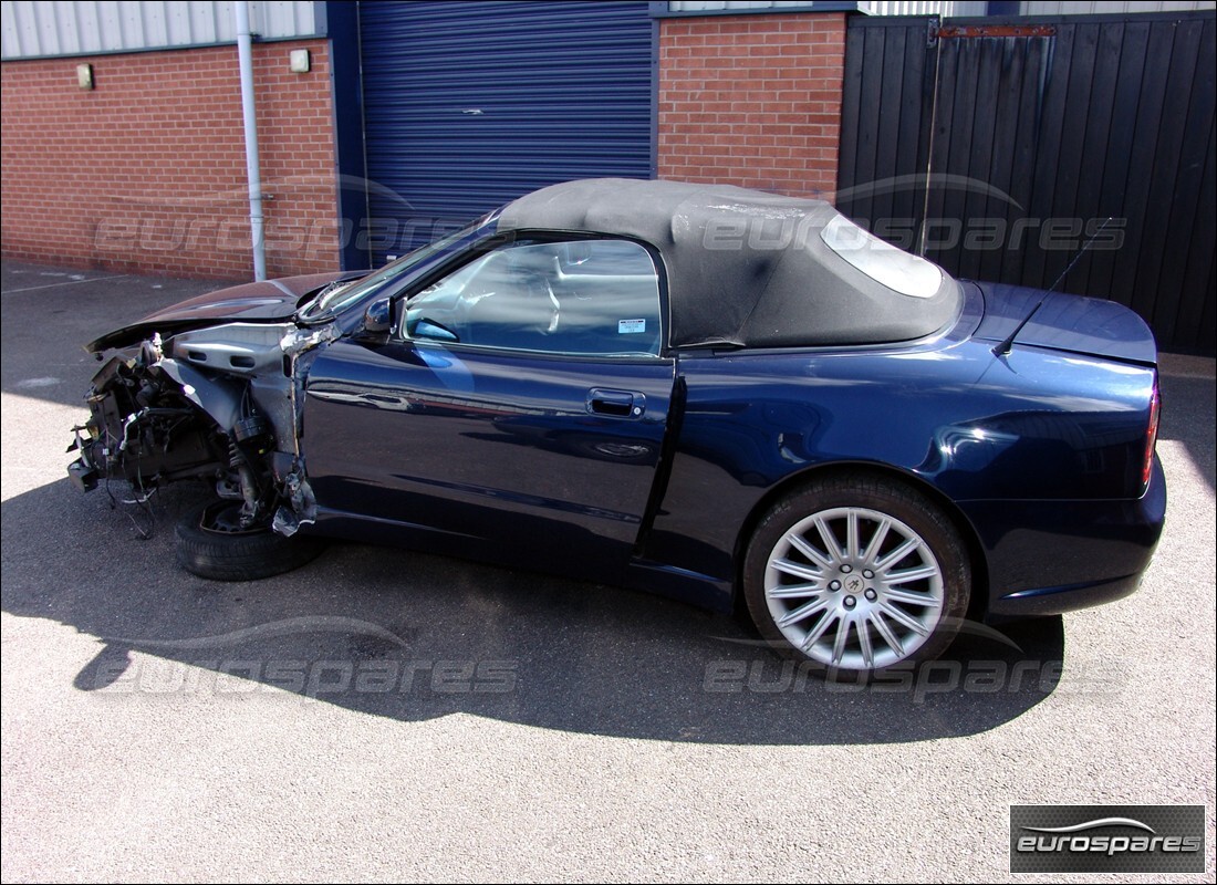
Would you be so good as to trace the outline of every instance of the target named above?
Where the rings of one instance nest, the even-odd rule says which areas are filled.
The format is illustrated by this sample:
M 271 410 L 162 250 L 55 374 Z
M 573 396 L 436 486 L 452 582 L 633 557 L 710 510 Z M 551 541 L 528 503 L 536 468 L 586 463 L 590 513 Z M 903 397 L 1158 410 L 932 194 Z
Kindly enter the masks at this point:
M 537 187 L 654 174 L 645 2 L 363 2 L 371 259 Z

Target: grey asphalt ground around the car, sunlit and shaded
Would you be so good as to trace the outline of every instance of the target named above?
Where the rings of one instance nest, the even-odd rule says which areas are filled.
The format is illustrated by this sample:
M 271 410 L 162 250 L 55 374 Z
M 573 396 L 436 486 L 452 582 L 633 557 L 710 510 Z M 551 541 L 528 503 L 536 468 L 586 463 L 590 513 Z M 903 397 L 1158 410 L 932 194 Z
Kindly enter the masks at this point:
M 1206 872 L 1168 879 L 1213 881 L 1213 360 L 1163 358 L 1137 594 L 862 689 L 725 616 L 433 555 L 183 572 L 197 492 L 82 495 L 63 449 L 80 345 L 217 287 L 4 264 L 4 880 L 1095 880 L 1011 876 L 1009 806 L 1179 803 Z

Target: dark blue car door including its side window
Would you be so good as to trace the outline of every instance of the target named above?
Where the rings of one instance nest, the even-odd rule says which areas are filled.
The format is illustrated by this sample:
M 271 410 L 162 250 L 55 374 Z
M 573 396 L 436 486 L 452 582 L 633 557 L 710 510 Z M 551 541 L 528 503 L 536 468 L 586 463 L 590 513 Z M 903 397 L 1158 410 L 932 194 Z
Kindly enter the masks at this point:
M 303 437 L 323 517 L 627 562 L 674 381 L 656 261 L 627 240 L 501 243 L 399 306 L 387 343 L 325 348 Z

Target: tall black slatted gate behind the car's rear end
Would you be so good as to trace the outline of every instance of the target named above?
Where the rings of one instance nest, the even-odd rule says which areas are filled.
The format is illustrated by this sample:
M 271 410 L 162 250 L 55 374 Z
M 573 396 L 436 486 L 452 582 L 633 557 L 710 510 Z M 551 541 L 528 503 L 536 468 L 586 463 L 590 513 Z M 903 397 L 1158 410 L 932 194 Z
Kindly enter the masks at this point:
M 1213 353 L 1211 12 L 849 21 L 837 206 L 960 276 L 1061 289 Z

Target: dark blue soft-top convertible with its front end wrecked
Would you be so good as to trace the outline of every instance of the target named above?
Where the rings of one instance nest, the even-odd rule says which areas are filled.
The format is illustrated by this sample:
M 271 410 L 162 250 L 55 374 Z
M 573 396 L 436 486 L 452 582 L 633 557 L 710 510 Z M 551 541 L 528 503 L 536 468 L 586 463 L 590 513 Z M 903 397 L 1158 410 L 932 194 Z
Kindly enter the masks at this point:
M 178 527 L 197 575 L 403 544 L 735 609 L 860 674 L 1132 593 L 1166 508 L 1135 314 L 738 187 L 555 185 L 88 348 L 69 474 L 214 488 Z

